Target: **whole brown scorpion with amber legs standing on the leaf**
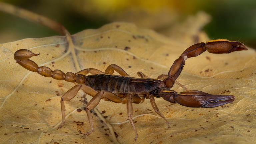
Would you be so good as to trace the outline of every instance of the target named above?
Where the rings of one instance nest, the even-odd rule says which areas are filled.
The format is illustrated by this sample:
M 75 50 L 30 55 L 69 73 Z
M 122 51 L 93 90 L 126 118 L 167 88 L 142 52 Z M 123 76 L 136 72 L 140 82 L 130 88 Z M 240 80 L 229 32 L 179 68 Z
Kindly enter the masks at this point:
M 176 102 L 187 107 L 203 108 L 217 107 L 234 101 L 235 97 L 233 95 L 211 95 L 197 90 L 187 90 L 177 94 L 177 92 L 170 90 L 180 75 L 185 60 L 190 57 L 196 57 L 206 50 L 210 53 L 231 53 L 233 51 L 247 50 L 247 48 L 240 42 L 225 39 L 194 44 L 187 48 L 181 56 L 174 61 L 168 75 L 160 75 L 158 79 L 149 78 L 142 72 L 138 72 L 138 75 L 141 78 L 130 77 L 122 68 L 115 64 L 109 65 L 105 72 L 89 68 L 81 70 L 75 74 L 72 72 L 67 72 L 65 74 L 60 70 L 52 71 L 45 66 L 38 67 L 38 65 L 29 60 L 29 58 L 39 54 L 34 54 L 26 49 L 16 51 L 14 59 L 24 68 L 37 72 L 45 77 L 77 83 L 77 85 L 72 87 L 61 97 L 62 123 L 58 128 L 61 128 L 65 124 L 64 101 L 71 100 L 81 89 L 86 94 L 93 97 L 86 106 L 86 113 L 91 126 L 91 131 L 87 132 L 87 135 L 91 134 L 94 130 L 90 110 L 94 109 L 101 99 L 104 99 L 115 103 L 126 103 L 128 118 L 136 134 L 134 141 L 136 141 L 138 133 L 132 119 L 132 103 L 142 103 L 145 98 L 150 99 L 150 103 L 155 112 L 166 121 L 168 128 L 170 128 L 169 122 L 159 112 L 157 105 L 154 102 L 154 97 L 162 97 L 166 101 L 172 103 Z M 121 76 L 112 75 L 114 71 L 118 72 Z M 92 75 L 87 75 L 88 73 Z

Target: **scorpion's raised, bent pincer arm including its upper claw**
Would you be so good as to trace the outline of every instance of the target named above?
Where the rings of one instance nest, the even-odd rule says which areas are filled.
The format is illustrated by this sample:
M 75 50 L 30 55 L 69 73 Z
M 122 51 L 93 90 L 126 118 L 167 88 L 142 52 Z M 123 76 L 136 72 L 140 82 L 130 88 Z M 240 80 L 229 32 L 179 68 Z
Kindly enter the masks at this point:
M 180 75 L 183 66 L 185 65 L 185 60 L 190 57 L 196 57 L 201 53 L 208 51 L 209 53 L 222 54 L 222 53 L 231 53 L 234 51 L 247 50 L 244 44 L 236 41 L 229 41 L 226 39 L 217 39 L 211 40 L 206 43 L 198 43 L 187 48 L 181 56 L 174 61 L 169 72 L 168 78 L 165 78 L 163 81 L 166 87 L 171 88 L 175 83 L 175 80 Z

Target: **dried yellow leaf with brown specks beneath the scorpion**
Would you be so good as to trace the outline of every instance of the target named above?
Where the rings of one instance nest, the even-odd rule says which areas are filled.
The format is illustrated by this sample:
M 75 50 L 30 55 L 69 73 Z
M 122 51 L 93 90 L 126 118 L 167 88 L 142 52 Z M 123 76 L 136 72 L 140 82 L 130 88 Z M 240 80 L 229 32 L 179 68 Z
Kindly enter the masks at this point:
M 98 116 L 90 130 L 79 92 L 65 103 L 66 124 L 61 122 L 60 97 L 74 84 L 43 77 L 15 63 L 13 54 L 21 48 L 41 53 L 31 59 L 40 66 L 76 72 L 110 64 L 121 66 L 132 77 L 141 71 L 151 78 L 167 74 L 175 59 L 192 43 L 171 40 L 129 23 L 112 23 L 96 30 L 66 37 L 23 39 L 1 44 L 0 53 L 0 143 L 133 143 L 133 128 L 127 120 L 126 105 L 101 101 L 96 111 L 111 124 L 110 134 Z M 203 53 L 186 61 L 178 81 L 191 90 L 234 95 L 235 101 L 216 108 L 189 108 L 156 99 L 165 121 L 152 109 L 149 100 L 133 104 L 139 137 L 136 143 L 255 143 L 256 53 Z M 117 74 L 117 73 L 115 73 Z M 173 90 L 182 88 L 174 85 Z M 89 100 L 90 96 L 86 96 Z

